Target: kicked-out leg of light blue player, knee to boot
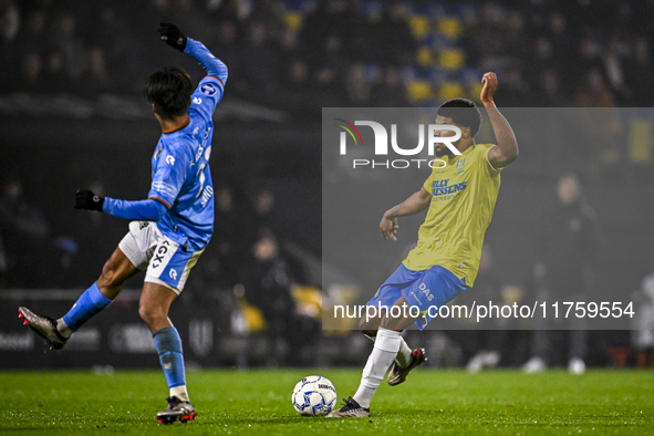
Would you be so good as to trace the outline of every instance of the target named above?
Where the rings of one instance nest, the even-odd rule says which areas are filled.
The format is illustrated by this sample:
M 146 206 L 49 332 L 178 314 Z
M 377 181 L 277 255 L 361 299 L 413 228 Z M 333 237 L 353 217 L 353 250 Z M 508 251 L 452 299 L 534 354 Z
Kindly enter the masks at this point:
M 43 336 L 51 349 L 62 349 L 77 329 L 111 304 L 121 293 L 125 281 L 136 272 L 136 267 L 120 248 L 116 248 L 105 262 L 97 281 L 77 299 L 64 316 L 58 320 L 39 316 L 22 307 L 18 309 L 19 316 L 24 318 L 25 325 Z

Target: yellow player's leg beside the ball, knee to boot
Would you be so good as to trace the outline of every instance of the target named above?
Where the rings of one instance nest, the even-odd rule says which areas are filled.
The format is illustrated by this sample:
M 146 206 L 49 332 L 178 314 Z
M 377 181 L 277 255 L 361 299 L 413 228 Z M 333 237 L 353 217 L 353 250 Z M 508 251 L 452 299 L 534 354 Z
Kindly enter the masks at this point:
M 415 321 L 408 311 L 408 303 L 401 297 L 393 307 L 398 307 L 399 311 L 391 310 L 381 318 L 376 331 L 375 345 L 363 368 L 361 384 L 354 396 L 345 399 L 345 405 L 338 411 L 333 411 L 328 417 L 368 417 L 370 403 L 380 387 L 388 367 L 395 362 L 404 340 L 402 331 Z M 399 316 L 393 316 L 399 313 Z M 372 333 L 373 323 L 363 323 L 362 330 Z M 406 346 L 406 343 L 405 343 Z M 406 346 L 408 349 L 408 346 Z

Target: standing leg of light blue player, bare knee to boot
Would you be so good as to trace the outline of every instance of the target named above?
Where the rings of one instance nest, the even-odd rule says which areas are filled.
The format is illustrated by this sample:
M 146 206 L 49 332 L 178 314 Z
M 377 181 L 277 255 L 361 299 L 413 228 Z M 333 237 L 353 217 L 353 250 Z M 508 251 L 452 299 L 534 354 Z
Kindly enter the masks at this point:
M 157 413 L 157 421 L 163 424 L 177 421 L 186 423 L 196 417 L 186 390 L 181 340 L 168 318 L 170 304 L 176 298 L 177 293 L 169 288 L 146 281 L 138 305 L 138 314 L 153 333 L 162 370 L 170 390 L 170 395 L 166 398 L 168 407 Z

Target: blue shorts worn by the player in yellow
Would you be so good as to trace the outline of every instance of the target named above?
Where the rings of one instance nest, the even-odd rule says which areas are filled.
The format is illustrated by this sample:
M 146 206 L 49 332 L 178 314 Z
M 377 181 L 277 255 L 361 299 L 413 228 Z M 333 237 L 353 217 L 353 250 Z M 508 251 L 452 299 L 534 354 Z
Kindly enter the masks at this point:
M 391 308 L 401 297 L 404 297 L 408 305 L 418 308 L 421 311 L 422 316 L 415 324 L 424 330 L 432 321 L 429 312 L 436 314 L 442 305 L 468 288 L 465 279 L 458 279 L 443 267 L 412 271 L 401 264 L 380 287 L 367 305 Z M 429 308 L 436 309 L 429 310 Z

